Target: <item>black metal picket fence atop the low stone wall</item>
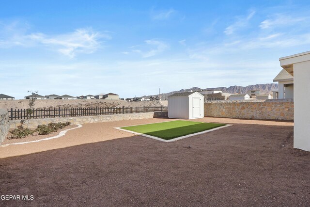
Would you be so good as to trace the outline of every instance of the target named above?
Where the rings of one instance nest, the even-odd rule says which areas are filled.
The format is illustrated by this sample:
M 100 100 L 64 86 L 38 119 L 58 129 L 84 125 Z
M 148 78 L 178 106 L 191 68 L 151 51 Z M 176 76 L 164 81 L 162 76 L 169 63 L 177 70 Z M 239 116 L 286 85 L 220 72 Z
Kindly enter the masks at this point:
M 167 106 L 159 107 L 94 107 L 94 108 L 53 108 L 53 109 L 32 109 L 30 113 L 27 109 L 12 109 L 10 112 L 11 120 L 27 119 L 29 114 L 32 119 L 55 118 L 55 117 L 74 117 L 74 116 L 97 116 L 124 113 L 145 113 L 155 111 L 168 111 Z

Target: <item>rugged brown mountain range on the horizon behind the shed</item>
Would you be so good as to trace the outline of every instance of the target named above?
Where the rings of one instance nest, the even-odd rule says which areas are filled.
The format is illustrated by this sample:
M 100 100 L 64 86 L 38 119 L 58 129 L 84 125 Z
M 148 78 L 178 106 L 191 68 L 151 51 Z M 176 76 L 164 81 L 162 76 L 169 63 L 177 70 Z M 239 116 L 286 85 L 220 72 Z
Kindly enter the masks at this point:
M 216 91 L 222 91 L 223 93 L 228 94 L 245 94 L 249 90 L 260 90 L 261 94 L 272 94 L 272 91 L 278 90 L 278 83 L 266 83 L 266 84 L 256 84 L 256 85 L 248 85 L 248 86 L 230 86 L 230 87 L 217 87 L 217 88 L 199 88 L 199 87 L 193 87 L 189 89 L 181 89 L 179 91 L 172 91 L 166 94 L 160 94 L 162 100 L 168 100 L 168 96 L 171 96 L 174 93 L 182 93 L 182 92 L 190 92 L 190 91 L 207 91 L 207 90 L 216 90 Z M 142 97 L 150 97 L 150 96 L 158 96 L 158 94 L 155 95 L 149 95 L 149 96 L 142 96 Z

